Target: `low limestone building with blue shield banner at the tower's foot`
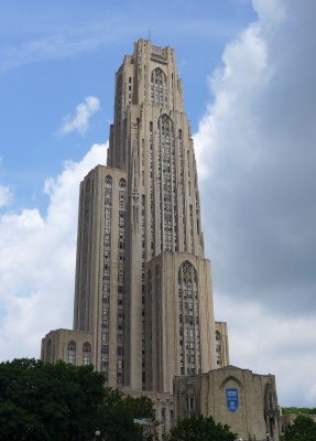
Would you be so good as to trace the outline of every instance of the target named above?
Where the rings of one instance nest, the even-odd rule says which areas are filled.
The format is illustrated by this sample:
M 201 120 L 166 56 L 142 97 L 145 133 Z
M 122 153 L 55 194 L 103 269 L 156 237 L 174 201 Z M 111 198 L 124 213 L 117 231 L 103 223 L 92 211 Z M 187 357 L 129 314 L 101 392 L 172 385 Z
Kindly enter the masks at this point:
M 279 441 L 280 410 L 274 375 L 226 366 L 174 379 L 174 417 L 197 412 L 230 426 L 243 441 Z

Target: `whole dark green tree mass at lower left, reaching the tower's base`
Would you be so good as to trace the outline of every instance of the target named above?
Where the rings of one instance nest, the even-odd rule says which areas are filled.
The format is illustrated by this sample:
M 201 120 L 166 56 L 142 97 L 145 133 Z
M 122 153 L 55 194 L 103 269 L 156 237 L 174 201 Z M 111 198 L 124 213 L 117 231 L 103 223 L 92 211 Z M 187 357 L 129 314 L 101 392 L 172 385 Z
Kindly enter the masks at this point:
M 34 358 L 0 364 L 0 440 L 91 440 L 100 430 L 116 441 L 142 440 L 135 418 L 154 418 L 146 397 L 105 388 L 90 366 Z

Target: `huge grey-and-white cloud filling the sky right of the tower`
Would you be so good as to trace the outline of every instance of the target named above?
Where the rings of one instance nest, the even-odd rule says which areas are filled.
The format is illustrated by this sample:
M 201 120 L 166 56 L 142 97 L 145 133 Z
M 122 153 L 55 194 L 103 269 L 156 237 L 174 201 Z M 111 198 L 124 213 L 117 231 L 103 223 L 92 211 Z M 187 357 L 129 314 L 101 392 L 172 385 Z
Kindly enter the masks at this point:
M 253 7 L 194 137 L 215 312 L 232 364 L 275 374 L 281 405 L 314 407 L 316 3 Z

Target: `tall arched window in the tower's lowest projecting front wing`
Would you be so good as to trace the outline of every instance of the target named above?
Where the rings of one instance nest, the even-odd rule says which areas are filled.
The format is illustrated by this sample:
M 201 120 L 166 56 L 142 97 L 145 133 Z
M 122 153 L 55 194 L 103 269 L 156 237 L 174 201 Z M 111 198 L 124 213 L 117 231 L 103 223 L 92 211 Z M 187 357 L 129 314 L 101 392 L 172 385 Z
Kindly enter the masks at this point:
M 184 261 L 178 269 L 178 325 L 181 374 L 200 373 L 198 281 L 194 266 Z

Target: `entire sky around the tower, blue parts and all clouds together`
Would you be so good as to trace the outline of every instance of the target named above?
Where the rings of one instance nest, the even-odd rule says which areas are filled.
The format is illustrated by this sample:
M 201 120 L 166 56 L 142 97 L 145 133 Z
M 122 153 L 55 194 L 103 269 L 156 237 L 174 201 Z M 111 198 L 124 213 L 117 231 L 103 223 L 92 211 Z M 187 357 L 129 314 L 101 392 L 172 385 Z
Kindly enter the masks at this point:
M 115 72 L 150 32 L 176 51 L 230 362 L 275 374 L 281 405 L 315 407 L 315 12 L 1 2 L 1 359 L 39 357 L 45 333 L 72 326 L 78 184 L 106 163 Z

